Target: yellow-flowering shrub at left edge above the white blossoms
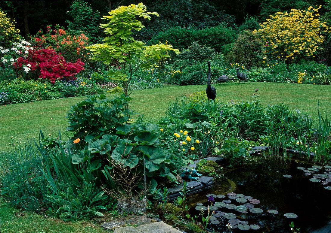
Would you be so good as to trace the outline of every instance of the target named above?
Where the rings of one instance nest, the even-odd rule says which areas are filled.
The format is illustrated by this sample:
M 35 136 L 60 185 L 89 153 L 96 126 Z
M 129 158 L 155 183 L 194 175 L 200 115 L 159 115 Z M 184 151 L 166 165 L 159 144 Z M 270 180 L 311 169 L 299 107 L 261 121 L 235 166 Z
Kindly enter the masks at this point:
M 6 43 L 19 39 L 20 30 L 15 29 L 15 21 L 0 10 L 0 41 Z

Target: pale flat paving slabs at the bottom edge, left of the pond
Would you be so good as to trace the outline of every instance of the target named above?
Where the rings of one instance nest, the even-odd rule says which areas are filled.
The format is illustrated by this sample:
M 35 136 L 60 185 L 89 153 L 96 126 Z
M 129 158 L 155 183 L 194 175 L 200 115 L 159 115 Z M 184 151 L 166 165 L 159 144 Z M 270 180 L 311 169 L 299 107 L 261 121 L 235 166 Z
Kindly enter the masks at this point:
M 164 222 L 153 222 L 138 227 L 126 226 L 115 228 L 114 233 L 182 233 Z

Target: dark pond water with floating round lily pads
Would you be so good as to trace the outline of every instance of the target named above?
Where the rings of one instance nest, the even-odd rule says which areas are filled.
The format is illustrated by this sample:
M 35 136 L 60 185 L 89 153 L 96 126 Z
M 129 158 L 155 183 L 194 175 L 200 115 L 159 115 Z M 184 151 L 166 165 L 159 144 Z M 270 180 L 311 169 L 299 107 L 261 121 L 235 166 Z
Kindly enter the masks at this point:
M 230 191 L 230 196 L 222 190 L 225 197 L 219 195 L 219 190 L 224 189 L 225 181 L 215 182 L 214 187 L 208 191 L 209 194 L 218 195 L 214 198 L 214 205 L 218 206 L 218 212 L 214 214 L 216 218 L 212 218 L 215 224 L 210 223 L 208 228 L 215 232 L 282 233 L 291 232 L 289 224 L 293 221 L 295 228 L 301 228 L 300 233 L 331 233 L 331 190 L 325 189 L 331 186 L 331 167 L 317 168 L 308 175 L 303 168 L 311 168 L 312 164 L 292 161 L 284 166 L 281 163 L 266 160 L 261 164 L 247 165 L 225 173 L 225 177 L 232 180 L 237 187 Z M 325 177 L 315 178 L 317 174 L 325 174 Z M 318 182 L 310 180 L 314 178 L 314 181 Z M 323 182 L 323 179 L 327 181 Z M 206 193 L 201 195 L 205 195 L 203 204 L 207 206 Z M 221 202 L 227 205 L 224 206 Z M 236 206 L 241 208 L 238 209 Z M 205 215 L 206 213 L 207 211 Z M 298 217 L 287 218 L 284 216 L 287 213 L 294 214 L 289 214 L 290 217 Z M 198 215 L 199 212 L 196 211 L 195 214 Z M 231 216 L 233 219 L 229 219 Z M 226 226 L 229 221 L 231 229 Z M 242 226 L 239 227 L 240 224 Z M 248 227 L 251 225 L 251 228 Z M 253 230 L 254 227 L 259 229 Z

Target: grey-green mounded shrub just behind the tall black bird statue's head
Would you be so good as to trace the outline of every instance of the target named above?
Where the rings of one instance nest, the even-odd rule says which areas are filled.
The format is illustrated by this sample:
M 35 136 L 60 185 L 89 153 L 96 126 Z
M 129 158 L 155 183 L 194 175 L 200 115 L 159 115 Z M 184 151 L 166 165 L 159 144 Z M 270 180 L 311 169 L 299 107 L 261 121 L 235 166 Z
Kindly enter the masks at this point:
M 202 47 L 198 42 L 199 41 L 194 42 L 187 50 L 178 54 L 178 58 L 192 59 L 201 62 L 206 59 L 213 59 L 213 57 L 216 56 L 215 49 L 206 46 Z

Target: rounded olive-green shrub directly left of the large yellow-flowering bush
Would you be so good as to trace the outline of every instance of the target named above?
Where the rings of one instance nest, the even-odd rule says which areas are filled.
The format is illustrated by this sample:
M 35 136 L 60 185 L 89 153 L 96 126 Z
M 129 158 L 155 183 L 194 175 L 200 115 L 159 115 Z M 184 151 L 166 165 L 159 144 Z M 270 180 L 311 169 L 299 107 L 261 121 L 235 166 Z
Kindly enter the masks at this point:
M 241 63 L 246 67 L 263 66 L 263 61 L 267 62 L 264 43 L 256 34 L 245 30 L 238 36 L 232 51 L 224 57 L 224 60 L 228 63 Z

